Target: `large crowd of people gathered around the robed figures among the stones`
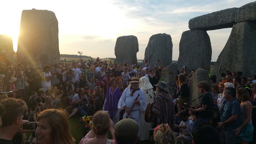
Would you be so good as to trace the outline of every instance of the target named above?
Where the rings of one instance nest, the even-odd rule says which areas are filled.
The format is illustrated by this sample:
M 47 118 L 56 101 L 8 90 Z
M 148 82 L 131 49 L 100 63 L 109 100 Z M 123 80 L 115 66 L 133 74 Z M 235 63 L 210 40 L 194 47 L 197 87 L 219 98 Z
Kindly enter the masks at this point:
M 189 89 L 195 70 L 186 67 L 174 77 L 170 90 L 162 81 L 160 60 L 154 68 L 147 60 L 145 67 L 136 67 L 126 62 L 117 65 L 111 60 L 108 64 L 99 57 L 95 61 L 62 61 L 43 67 L 38 60 L 35 63 L 16 61 L 12 66 L 0 62 L 0 90 L 5 91 L 0 96 L 1 143 L 19 143 L 13 137 L 17 131 L 24 132 L 20 126 L 28 121 L 37 122 L 39 144 L 75 143 L 69 128 L 64 128 L 74 115 L 93 115 L 92 130 L 81 144 L 130 144 L 150 140 L 151 136 L 157 144 L 255 143 L 255 75 L 246 78 L 242 72 L 229 69 L 222 73 L 220 65 L 220 82 L 209 74 L 210 83 L 198 83 L 203 94 L 198 96 L 201 102 L 191 106 Z M 144 117 L 150 103 L 152 117 L 148 122 Z M 14 131 L 8 131 L 10 128 Z M 49 130 L 47 134 L 45 129 Z M 67 135 L 65 140 L 61 139 L 63 135 Z

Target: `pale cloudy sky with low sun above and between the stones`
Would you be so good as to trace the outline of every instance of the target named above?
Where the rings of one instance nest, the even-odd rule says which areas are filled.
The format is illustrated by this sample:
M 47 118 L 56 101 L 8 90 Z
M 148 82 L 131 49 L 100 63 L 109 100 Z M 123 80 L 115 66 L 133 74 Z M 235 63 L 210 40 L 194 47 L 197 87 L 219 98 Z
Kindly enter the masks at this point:
M 179 58 L 179 43 L 188 21 L 194 17 L 241 7 L 250 0 L 8 0 L 0 4 L 0 34 L 12 36 L 17 51 L 22 10 L 49 10 L 59 23 L 60 54 L 93 58 L 115 58 L 119 36 L 138 38 L 137 59 L 144 59 L 150 36 L 166 33 L 172 37 L 172 60 Z M 230 35 L 231 28 L 207 31 L 216 61 Z

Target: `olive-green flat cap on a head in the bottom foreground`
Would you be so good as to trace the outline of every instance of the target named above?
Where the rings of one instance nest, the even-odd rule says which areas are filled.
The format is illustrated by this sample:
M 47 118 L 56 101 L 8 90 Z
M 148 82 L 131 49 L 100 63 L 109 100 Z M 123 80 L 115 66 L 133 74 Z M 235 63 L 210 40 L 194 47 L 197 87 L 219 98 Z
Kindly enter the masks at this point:
M 116 123 L 115 134 L 121 137 L 136 136 L 139 132 L 139 124 L 130 118 L 125 118 Z

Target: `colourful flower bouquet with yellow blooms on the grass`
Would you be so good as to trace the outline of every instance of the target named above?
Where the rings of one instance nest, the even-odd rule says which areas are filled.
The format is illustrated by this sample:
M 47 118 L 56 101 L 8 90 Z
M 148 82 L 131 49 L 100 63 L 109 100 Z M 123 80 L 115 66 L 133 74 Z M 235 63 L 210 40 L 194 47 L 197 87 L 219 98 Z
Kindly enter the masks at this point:
M 92 126 L 92 116 L 83 116 L 79 119 L 79 125 L 76 125 L 76 128 L 80 128 L 83 131 L 84 136 L 90 132 L 90 127 Z

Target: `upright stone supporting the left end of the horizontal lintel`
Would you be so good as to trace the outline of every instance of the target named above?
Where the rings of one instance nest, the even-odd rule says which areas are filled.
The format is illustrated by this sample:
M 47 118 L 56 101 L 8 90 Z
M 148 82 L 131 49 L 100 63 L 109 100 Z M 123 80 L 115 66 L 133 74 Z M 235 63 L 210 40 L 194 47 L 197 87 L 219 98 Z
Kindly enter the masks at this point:
M 212 59 L 210 37 L 205 30 L 188 30 L 182 33 L 179 48 L 178 69 L 209 68 Z

